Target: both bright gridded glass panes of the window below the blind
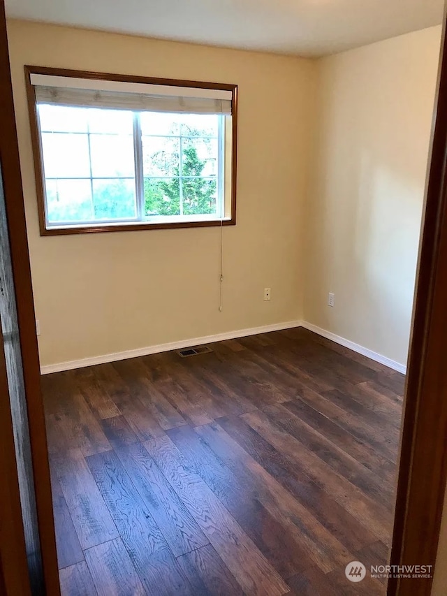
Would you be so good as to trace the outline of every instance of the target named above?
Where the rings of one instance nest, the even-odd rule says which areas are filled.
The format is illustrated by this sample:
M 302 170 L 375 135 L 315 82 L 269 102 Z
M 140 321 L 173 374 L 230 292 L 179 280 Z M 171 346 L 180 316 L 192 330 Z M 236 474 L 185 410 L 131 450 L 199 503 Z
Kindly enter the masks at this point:
M 225 118 L 39 103 L 47 226 L 218 219 Z

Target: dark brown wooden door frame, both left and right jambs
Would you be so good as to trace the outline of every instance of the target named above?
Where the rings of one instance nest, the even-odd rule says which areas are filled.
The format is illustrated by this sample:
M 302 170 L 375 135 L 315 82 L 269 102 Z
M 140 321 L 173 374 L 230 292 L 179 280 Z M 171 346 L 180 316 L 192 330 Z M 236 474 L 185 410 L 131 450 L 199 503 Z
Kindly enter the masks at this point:
M 50 485 L 50 469 L 45 433 L 45 417 L 40 388 L 40 368 L 36 338 L 34 300 L 29 268 L 29 250 L 24 215 L 20 161 L 15 130 L 4 0 L 0 0 L 0 161 L 6 198 L 10 249 L 20 327 L 20 344 L 27 394 L 27 409 L 35 477 L 38 525 L 41 539 L 45 586 L 50 595 L 59 595 L 57 554 Z M 397 482 L 397 500 L 391 550 L 391 565 L 434 565 L 439 542 L 441 514 L 447 479 L 447 44 L 444 32 L 434 132 L 427 178 L 423 237 L 420 245 L 413 330 L 406 378 L 402 444 Z M 444 108 L 444 109 L 443 109 Z M 3 380 L 0 361 L 0 388 Z M 3 380 L 4 383 L 4 380 Z M 8 405 L 7 405 L 8 406 Z M 9 413 L 10 421 L 10 413 Z M 17 525 L 20 507 L 17 473 L 12 468 L 11 430 L 8 416 L 0 416 L 0 432 L 5 444 L 0 458 L 8 461 L 6 481 L 10 493 L 0 507 L 15 511 L 11 521 L 17 533 L 17 565 L 25 576 L 24 542 Z M 3 433 L 3 426 L 5 433 Z M 13 447 L 13 443 L 12 443 Z M 15 460 L 14 460 L 15 461 Z M 1 459 L 0 459 L 1 462 Z M 430 465 L 427 465 L 430 463 Z M 3 488 L 3 487 L 2 487 Z M 3 511 L 3 509 L 1 509 Z M 11 543 L 12 544 L 12 543 Z M 3 551 L 0 549 L 3 567 Z M 3 567 L 4 572 L 5 567 Z M 3 576 L 6 574 L 3 574 Z M 13 580 L 11 580 L 13 581 Z M 16 580 L 17 581 L 17 573 Z M 9 585 L 9 584 L 8 584 Z M 430 596 L 432 580 L 390 579 L 388 596 Z M 9 593 L 8 593 L 9 594 Z M 11 591 L 11 595 L 27 595 Z

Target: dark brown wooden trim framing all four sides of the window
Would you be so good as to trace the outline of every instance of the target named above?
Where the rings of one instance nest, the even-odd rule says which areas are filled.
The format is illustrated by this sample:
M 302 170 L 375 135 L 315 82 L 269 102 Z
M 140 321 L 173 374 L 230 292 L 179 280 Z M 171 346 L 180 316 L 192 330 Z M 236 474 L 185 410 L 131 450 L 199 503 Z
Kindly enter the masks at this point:
M 237 85 L 228 85 L 226 83 L 214 83 L 203 81 L 190 81 L 168 78 L 154 78 L 134 75 L 117 75 L 113 73 L 96 73 L 92 71 L 75 71 L 67 68 L 50 68 L 47 66 L 24 66 L 25 82 L 27 86 L 27 99 L 29 110 L 29 122 L 31 126 L 31 145 L 34 160 L 34 175 L 36 178 L 36 194 L 38 220 L 41 236 L 84 234 L 97 232 L 124 232 L 136 230 L 160 230 L 172 228 L 205 228 L 212 226 L 235 226 L 236 224 L 236 188 L 237 188 Z M 135 221 L 123 223 L 105 223 L 98 225 L 78 225 L 71 224 L 70 227 L 64 226 L 56 228 L 47 226 L 45 217 L 45 188 L 43 177 L 43 155 L 41 148 L 41 136 L 39 134 L 38 113 L 36 103 L 36 93 L 34 85 L 31 85 L 31 74 L 54 75 L 60 77 L 73 77 L 83 79 L 110 80 L 131 83 L 143 83 L 149 85 L 165 85 L 174 87 L 197 87 L 198 89 L 220 89 L 231 92 L 231 184 L 230 184 L 230 217 L 223 219 L 210 219 L 205 221 L 166 221 L 157 223 L 148 223 L 147 221 Z M 221 148 L 219 148 L 221 149 Z M 222 174 L 223 176 L 224 174 Z

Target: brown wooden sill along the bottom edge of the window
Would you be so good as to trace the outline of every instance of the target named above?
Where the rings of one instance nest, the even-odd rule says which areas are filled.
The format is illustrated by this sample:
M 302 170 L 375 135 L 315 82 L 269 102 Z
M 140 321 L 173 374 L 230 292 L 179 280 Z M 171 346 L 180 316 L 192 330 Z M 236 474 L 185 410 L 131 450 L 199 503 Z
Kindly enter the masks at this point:
M 41 222 L 41 236 L 57 236 L 69 234 L 90 234 L 98 232 L 134 232 L 137 230 L 170 230 L 176 228 L 208 228 L 212 226 L 235 226 L 236 218 L 226 218 L 222 222 L 220 219 L 203 219 L 196 221 L 154 221 L 149 223 L 141 221 L 135 223 L 132 221 L 129 224 L 120 221 L 117 224 L 82 224 L 80 226 L 50 226 L 46 227 L 44 222 Z

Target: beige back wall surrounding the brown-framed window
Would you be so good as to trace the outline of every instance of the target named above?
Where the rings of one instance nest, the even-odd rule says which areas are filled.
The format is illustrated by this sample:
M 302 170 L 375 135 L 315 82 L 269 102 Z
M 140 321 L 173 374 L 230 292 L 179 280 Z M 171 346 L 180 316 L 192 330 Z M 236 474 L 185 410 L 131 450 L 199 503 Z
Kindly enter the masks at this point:
M 43 365 L 302 317 L 312 61 L 17 21 L 8 36 Z M 217 228 L 39 236 L 24 64 L 239 85 L 223 312 Z

